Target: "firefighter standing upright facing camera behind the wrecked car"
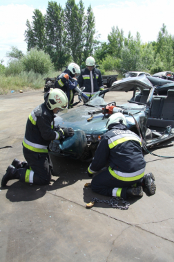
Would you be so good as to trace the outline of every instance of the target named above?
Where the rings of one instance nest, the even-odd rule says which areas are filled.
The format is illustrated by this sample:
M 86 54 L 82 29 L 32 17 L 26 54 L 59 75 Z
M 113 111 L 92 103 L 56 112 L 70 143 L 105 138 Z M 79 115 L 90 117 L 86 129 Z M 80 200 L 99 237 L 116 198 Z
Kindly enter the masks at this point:
M 101 72 L 95 68 L 95 59 L 92 56 L 86 59 L 86 68 L 81 70 L 78 83 L 79 87 L 85 87 L 84 94 L 89 98 L 97 91 L 104 90 Z

